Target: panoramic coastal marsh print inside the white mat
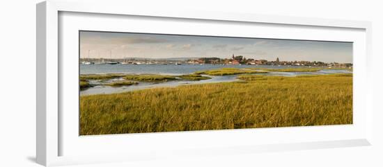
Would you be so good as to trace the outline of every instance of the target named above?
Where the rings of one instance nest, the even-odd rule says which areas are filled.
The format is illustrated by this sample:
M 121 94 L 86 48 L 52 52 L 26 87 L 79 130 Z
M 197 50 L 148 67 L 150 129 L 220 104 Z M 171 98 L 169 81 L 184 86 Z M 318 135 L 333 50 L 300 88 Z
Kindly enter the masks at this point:
M 79 31 L 79 134 L 352 124 L 352 42 Z

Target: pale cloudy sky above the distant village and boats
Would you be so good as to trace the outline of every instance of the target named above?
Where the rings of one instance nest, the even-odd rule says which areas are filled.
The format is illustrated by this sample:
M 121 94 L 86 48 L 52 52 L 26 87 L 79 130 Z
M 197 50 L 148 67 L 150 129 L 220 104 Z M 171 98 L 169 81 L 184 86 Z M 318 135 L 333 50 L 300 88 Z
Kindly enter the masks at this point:
M 81 58 L 231 58 L 352 62 L 351 42 L 80 31 Z

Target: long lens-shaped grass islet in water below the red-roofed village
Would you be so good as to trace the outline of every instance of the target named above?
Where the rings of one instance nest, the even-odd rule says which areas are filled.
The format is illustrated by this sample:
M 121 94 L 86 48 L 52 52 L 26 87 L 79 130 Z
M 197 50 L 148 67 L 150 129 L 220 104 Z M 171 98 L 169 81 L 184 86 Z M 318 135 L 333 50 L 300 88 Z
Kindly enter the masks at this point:
M 196 71 L 195 74 L 206 74 L 209 76 L 228 76 L 236 75 L 241 73 L 267 73 L 267 71 L 256 71 L 251 69 L 237 69 L 237 68 L 222 68 L 222 69 L 211 69 L 204 71 Z

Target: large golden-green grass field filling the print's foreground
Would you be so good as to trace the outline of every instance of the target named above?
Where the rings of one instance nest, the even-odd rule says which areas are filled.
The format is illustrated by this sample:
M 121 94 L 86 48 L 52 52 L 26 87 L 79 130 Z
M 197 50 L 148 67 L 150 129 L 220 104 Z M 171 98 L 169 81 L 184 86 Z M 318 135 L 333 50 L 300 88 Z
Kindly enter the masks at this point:
M 81 96 L 80 134 L 352 123 L 350 74 L 260 78 Z

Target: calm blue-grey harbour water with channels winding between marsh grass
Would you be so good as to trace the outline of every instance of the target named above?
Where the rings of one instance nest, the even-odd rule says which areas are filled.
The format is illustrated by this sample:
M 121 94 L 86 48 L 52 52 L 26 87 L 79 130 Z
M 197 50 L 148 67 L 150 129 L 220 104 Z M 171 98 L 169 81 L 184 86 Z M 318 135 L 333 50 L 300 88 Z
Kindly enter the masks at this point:
M 286 68 L 302 68 L 302 67 L 288 67 L 288 66 L 265 66 L 265 65 L 212 65 L 212 64 L 203 64 L 203 65 L 193 65 L 193 64 L 80 64 L 80 73 L 81 74 L 90 74 L 90 73 L 157 73 L 157 74 L 167 74 L 167 75 L 182 75 L 187 73 L 194 73 L 195 71 L 208 70 L 208 69 L 221 69 L 221 68 L 250 68 L 250 67 L 259 67 L 259 68 L 272 68 L 272 69 L 286 69 Z M 308 68 L 308 67 L 307 67 Z M 271 76 L 297 76 L 297 75 L 306 75 L 306 74 L 315 74 L 323 75 L 328 73 L 351 73 L 347 70 L 331 70 L 325 69 L 318 72 L 269 72 L 267 75 Z M 256 74 L 256 75 L 265 75 L 265 74 Z M 200 81 L 185 81 L 185 80 L 175 80 L 170 82 L 160 82 L 160 83 L 150 83 L 150 82 L 139 82 L 138 85 L 123 86 L 123 87 L 108 87 L 100 85 L 104 82 L 93 81 L 91 80 L 92 85 L 97 85 L 80 91 L 81 95 L 88 94 L 114 94 L 125 91 L 133 91 L 139 89 L 148 89 L 154 87 L 176 87 L 178 85 L 192 85 L 192 84 L 203 84 L 203 83 L 213 83 L 213 82 L 233 82 L 237 80 L 237 76 L 210 76 L 210 80 L 200 80 Z M 118 79 L 117 79 L 118 80 Z M 105 82 L 114 82 L 114 80 L 109 80 Z

